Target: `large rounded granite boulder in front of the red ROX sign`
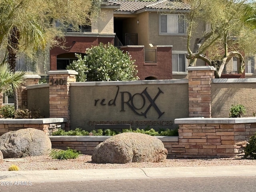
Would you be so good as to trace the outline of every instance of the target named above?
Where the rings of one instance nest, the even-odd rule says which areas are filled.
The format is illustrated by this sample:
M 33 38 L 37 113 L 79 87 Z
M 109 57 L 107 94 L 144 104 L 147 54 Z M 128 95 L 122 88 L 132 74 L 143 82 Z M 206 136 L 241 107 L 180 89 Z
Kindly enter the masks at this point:
M 162 162 L 167 150 L 158 138 L 141 133 L 121 133 L 98 144 L 92 154 L 96 163 Z

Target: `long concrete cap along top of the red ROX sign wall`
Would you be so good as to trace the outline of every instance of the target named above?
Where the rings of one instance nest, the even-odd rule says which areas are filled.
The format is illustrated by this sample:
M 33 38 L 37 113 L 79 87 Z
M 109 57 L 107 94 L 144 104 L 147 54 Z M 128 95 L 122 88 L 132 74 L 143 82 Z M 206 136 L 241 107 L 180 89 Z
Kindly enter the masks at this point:
M 101 81 L 101 82 L 70 82 L 70 86 L 110 86 L 110 85 L 145 85 L 145 84 L 187 84 L 188 79 L 175 80 L 138 80 L 138 81 Z

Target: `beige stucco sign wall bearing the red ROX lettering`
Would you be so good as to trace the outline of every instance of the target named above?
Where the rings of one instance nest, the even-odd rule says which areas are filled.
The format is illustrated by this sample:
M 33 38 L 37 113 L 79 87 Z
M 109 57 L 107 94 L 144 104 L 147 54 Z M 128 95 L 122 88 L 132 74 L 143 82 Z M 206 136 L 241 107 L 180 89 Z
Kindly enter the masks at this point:
M 140 81 L 138 81 L 140 82 Z M 132 122 L 133 128 L 176 128 L 175 118 L 188 117 L 188 84 L 110 84 L 107 86 L 73 86 L 70 87 L 70 121 L 71 129 L 83 128 L 94 129 L 92 124 L 109 124 L 119 121 L 120 124 Z M 160 81 L 158 81 L 160 82 Z M 166 82 L 166 81 L 162 81 Z M 102 82 L 102 84 L 108 82 Z M 86 84 L 86 83 L 85 83 Z M 79 85 L 79 84 L 78 84 Z M 119 90 L 118 90 L 119 87 Z M 160 90 L 163 92 L 160 92 Z M 150 106 L 150 99 L 155 101 L 159 111 L 154 104 Z M 123 92 L 123 93 L 122 93 Z M 128 106 L 129 93 L 135 111 Z M 124 104 L 122 111 L 122 94 Z M 159 94 L 157 96 L 157 94 Z M 116 97 L 116 105 L 108 105 Z M 145 105 L 143 106 L 143 98 Z M 98 100 L 96 102 L 96 100 Z M 96 103 L 95 103 L 96 102 Z M 102 102 L 102 104 L 101 104 Z M 132 106 L 132 102 L 128 102 Z M 141 109 L 140 109 L 141 108 Z M 141 115 L 145 112 L 146 117 Z M 164 112 L 162 116 L 160 113 Z M 159 117 L 160 116 L 160 117 Z

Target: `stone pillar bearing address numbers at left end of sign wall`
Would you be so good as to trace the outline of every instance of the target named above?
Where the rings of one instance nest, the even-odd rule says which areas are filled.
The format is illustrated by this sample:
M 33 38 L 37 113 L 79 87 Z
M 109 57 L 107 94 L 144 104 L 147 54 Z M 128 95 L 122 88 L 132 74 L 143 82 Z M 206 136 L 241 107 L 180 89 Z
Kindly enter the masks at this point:
M 76 82 L 74 70 L 51 70 L 49 75 L 50 118 L 67 118 L 65 129 L 70 129 L 70 82 Z

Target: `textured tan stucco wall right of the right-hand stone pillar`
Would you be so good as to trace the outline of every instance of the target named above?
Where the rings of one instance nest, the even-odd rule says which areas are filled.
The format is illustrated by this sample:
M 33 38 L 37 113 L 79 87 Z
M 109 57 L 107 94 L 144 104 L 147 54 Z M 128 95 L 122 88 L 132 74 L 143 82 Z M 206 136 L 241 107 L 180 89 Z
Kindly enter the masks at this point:
M 255 83 L 213 83 L 212 118 L 227 118 L 232 104 L 242 104 L 246 108 L 244 117 L 252 117 L 256 111 Z

